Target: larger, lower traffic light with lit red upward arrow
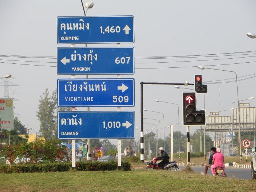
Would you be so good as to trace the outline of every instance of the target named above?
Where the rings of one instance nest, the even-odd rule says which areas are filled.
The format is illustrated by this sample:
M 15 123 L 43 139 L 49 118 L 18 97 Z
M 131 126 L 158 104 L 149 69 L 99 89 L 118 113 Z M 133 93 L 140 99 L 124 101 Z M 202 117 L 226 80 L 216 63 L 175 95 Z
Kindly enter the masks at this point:
M 183 93 L 183 124 L 184 126 L 205 125 L 205 111 L 196 110 L 195 92 Z

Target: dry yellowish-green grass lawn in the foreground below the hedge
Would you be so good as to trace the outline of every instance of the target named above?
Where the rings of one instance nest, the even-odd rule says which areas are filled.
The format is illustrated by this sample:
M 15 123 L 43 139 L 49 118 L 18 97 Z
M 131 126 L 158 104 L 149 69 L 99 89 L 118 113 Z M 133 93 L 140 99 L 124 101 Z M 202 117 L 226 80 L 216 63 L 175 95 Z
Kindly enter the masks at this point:
M 132 170 L 0 174 L 0 191 L 256 191 L 256 181 L 183 171 Z

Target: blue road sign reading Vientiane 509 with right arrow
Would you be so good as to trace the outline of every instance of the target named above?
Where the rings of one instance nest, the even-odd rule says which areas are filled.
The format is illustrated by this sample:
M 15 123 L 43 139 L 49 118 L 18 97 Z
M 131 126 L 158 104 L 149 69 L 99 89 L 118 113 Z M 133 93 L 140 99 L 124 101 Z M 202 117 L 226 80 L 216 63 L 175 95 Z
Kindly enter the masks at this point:
M 135 106 L 134 87 L 133 78 L 58 79 L 58 106 Z

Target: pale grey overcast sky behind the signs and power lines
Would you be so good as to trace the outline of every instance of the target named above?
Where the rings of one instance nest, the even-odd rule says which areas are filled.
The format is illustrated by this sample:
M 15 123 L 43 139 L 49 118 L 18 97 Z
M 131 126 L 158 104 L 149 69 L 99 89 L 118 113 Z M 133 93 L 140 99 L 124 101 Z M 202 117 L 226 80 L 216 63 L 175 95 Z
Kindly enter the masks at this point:
M 240 100 L 256 96 L 256 40 L 246 36 L 247 32 L 256 33 L 255 0 L 94 0 L 93 2 L 94 7 L 88 10 L 88 16 L 134 15 L 135 43 L 123 43 L 121 46 L 135 48 L 135 74 L 121 77 L 135 78 L 136 106 L 122 107 L 122 110 L 136 112 L 136 126 L 140 127 L 141 81 L 194 83 L 194 75 L 202 74 L 203 82 L 208 85 L 208 93 L 205 95 L 206 113 L 230 109 L 231 103 L 237 101 L 234 73 L 202 71 L 197 69 L 198 65 L 235 71 L 239 80 Z M 12 75 L 13 78 L 9 80 L 10 85 L 12 83 L 18 85 L 9 86 L 9 96 L 17 99 L 14 103 L 14 113 L 22 124 L 36 131 L 40 129 L 40 122 L 36 117 L 40 95 L 46 88 L 50 92 L 55 90 L 58 78 L 70 78 L 70 75 L 57 75 L 56 49 L 70 47 L 70 45 L 57 44 L 58 16 L 83 16 L 81 1 L 0 0 L 0 76 Z M 116 44 L 88 44 L 88 46 L 116 47 Z M 12 57 L 13 55 L 18 57 Z M 54 58 L 32 59 L 21 58 L 22 56 Z M 152 58 L 157 56 L 164 58 Z M 173 58 L 173 56 L 180 57 Z M 138 59 L 139 57 L 143 59 Z M 116 78 L 116 75 L 89 75 L 89 78 Z M 233 82 L 223 83 L 230 79 Z M 212 84 L 215 80 L 218 80 L 217 83 Z M 175 89 L 170 85 L 145 85 L 144 108 L 164 113 L 165 126 L 174 124 L 174 130 L 177 130 L 177 107 L 156 103 L 154 99 L 179 104 L 180 121 L 182 121 L 183 91 L 185 89 Z M 0 86 L 0 96 L 3 95 L 4 87 Z M 255 107 L 255 102 L 256 99 L 251 100 L 251 106 Z M 199 95 L 197 109 L 203 108 L 203 96 Z M 90 110 L 116 110 L 116 108 Z M 231 111 L 220 114 L 231 115 Z M 144 117 L 161 120 L 163 124 L 161 114 L 145 112 Z M 157 121 L 146 120 L 146 122 L 158 126 Z M 145 125 L 145 128 L 152 127 Z M 180 128 L 181 132 L 186 132 L 184 126 Z M 136 131 L 136 136 L 138 134 L 139 131 Z M 168 135 L 169 130 L 166 130 L 165 134 Z

